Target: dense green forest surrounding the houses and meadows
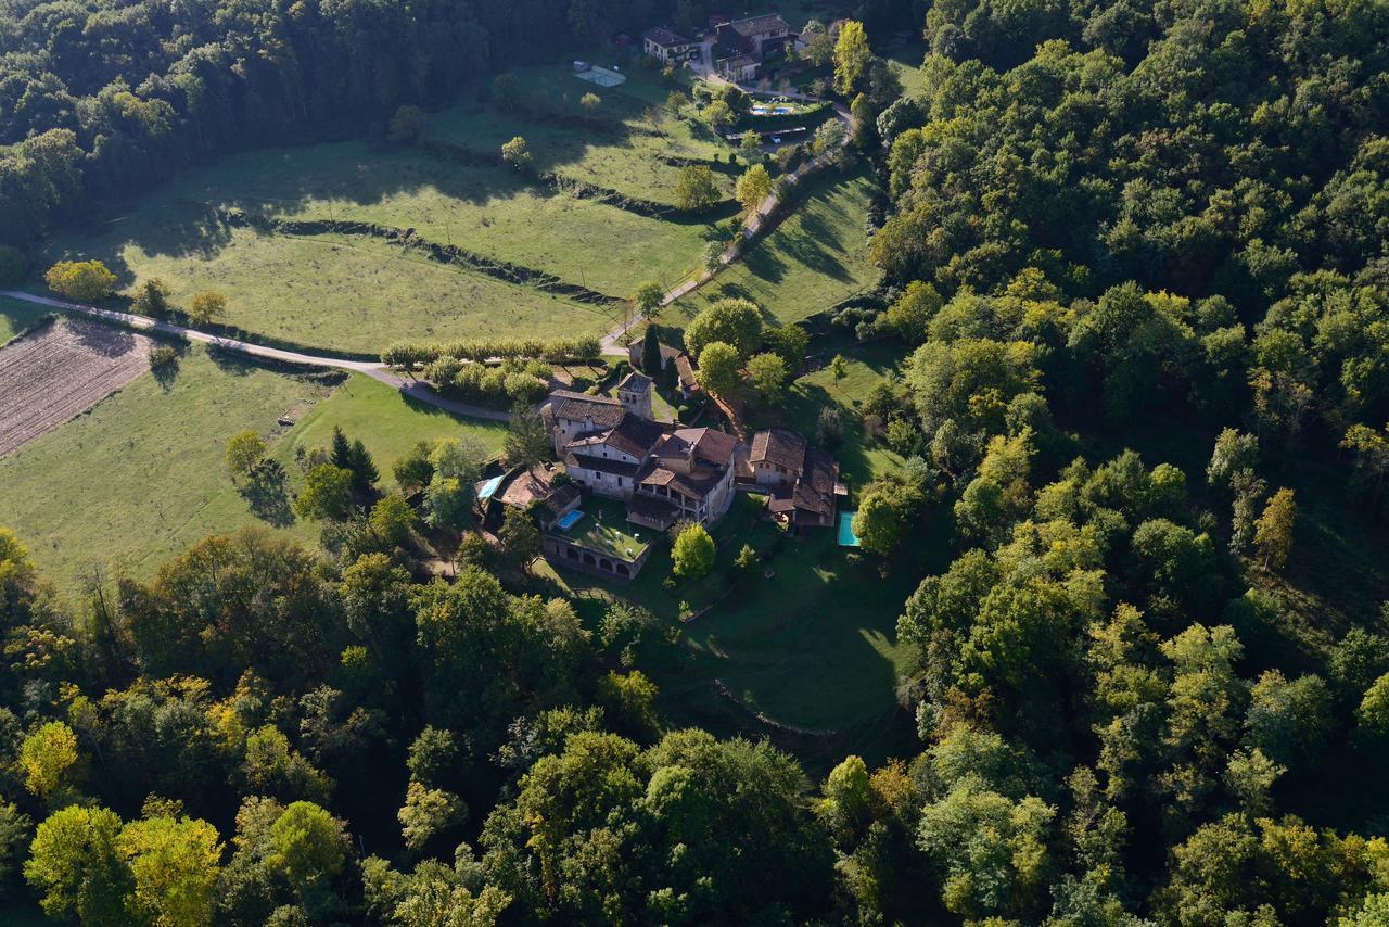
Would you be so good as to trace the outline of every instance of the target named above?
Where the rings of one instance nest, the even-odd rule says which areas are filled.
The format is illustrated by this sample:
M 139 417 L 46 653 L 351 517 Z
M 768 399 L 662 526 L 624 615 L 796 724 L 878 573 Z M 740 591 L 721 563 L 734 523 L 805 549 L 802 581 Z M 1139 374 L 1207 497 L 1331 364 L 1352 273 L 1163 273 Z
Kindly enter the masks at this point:
M 1389 923 L 1389 7 L 908 7 L 860 11 L 929 51 L 856 133 L 886 309 L 840 321 L 904 356 L 861 410 L 906 459 L 860 488 L 867 556 L 951 539 L 897 624 L 913 755 L 813 781 L 672 727 L 632 662 L 650 616 L 582 621 L 485 550 L 418 581 L 349 448 L 324 549 L 207 538 L 72 602 L 0 530 L 10 898 L 83 924 Z M 8 0 L 0 229 L 651 15 Z

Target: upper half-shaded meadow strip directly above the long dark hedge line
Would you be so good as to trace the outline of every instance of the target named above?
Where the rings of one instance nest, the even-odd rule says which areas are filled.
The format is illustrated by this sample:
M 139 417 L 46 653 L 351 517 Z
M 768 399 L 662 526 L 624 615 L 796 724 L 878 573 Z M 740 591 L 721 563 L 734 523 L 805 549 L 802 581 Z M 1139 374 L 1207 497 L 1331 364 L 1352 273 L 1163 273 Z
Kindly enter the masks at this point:
M 557 195 L 501 167 L 461 165 L 400 146 L 339 142 L 226 157 L 94 227 L 103 233 L 72 236 L 61 245 L 69 252 L 108 253 L 111 268 L 131 282 L 161 256 L 213 259 L 226 243 L 226 229 L 208 214 L 214 208 L 414 229 L 431 242 L 619 297 L 631 296 L 646 279 L 643 274 L 686 274 L 710 233 L 701 222 L 667 222 Z

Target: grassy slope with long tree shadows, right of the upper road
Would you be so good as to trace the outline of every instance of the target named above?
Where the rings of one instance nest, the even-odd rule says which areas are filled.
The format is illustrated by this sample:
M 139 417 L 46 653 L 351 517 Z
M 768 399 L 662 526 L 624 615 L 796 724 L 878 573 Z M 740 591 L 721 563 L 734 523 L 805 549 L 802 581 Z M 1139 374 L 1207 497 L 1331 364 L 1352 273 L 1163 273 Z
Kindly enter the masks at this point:
M 813 181 L 796 211 L 739 264 L 667 309 L 658 321 L 681 327 L 711 302 L 742 296 L 761 306 L 770 321 L 785 325 L 874 286 L 879 272 L 868 264 L 864 233 L 872 192 L 872 175 L 861 165 Z

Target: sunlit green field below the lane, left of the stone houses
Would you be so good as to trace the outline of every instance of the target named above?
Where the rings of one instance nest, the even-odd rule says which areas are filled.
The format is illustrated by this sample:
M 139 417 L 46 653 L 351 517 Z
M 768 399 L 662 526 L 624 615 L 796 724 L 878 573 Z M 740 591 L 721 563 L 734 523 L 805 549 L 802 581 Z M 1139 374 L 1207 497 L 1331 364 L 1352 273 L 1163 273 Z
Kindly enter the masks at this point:
M 276 425 L 289 414 L 297 424 Z M 222 464 L 228 439 L 267 435 L 292 481 L 294 445 L 326 445 L 335 424 L 361 438 L 383 485 L 417 441 L 471 432 L 499 448 L 501 427 L 407 403 L 365 377 L 338 389 L 193 349 L 161 385 L 139 377 L 90 411 L 0 459 L 0 511 L 43 575 L 71 591 L 90 566 L 149 575 L 215 532 L 257 521 Z M 317 542 L 317 525 L 285 530 Z

